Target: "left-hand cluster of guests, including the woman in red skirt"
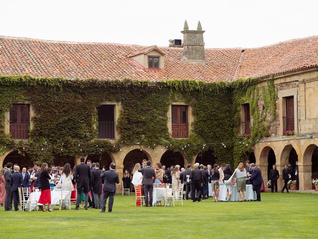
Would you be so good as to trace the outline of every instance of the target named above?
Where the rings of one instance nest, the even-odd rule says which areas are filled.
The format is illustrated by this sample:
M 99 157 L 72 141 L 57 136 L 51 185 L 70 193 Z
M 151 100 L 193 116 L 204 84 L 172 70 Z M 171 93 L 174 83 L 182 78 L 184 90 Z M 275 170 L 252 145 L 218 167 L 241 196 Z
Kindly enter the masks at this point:
M 18 188 L 30 188 L 31 192 L 40 191 L 39 204 L 41 210 L 52 212 L 51 191 L 54 188 L 67 188 L 71 193 L 71 200 L 76 200 L 75 210 L 79 210 L 79 205 L 87 210 L 88 208 L 101 209 L 105 212 L 106 202 L 108 202 L 108 212 L 112 211 L 116 183 L 119 183 L 119 175 L 115 171 L 115 163 L 111 163 L 109 170 L 99 168 L 99 163 L 92 163 L 80 158 L 80 164 L 73 169 L 69 163 L 63 167 L 47 163 L 34 163 L 33 168 L 22 168 L 17 164 L 8 162 L 0 171 L 0 204 L 5 211 L 12 211 L 12 201 L 14 210 L 18 211 L 19 195 Z M 103 187 L 102 187 L 103 185 Z M 76 189 L 76 190 L 75 190 Z M 103 196 L 102 196 L 103 191 Z M 89 197 L 89 193 L 91 197 Z M 26 198 L 27 199 L 27 198 Z

